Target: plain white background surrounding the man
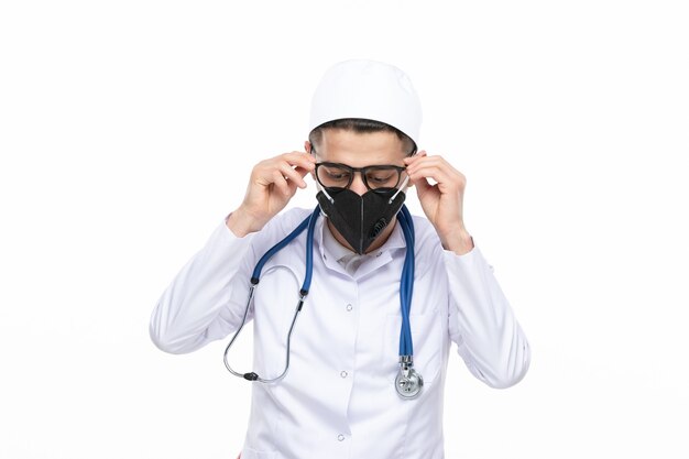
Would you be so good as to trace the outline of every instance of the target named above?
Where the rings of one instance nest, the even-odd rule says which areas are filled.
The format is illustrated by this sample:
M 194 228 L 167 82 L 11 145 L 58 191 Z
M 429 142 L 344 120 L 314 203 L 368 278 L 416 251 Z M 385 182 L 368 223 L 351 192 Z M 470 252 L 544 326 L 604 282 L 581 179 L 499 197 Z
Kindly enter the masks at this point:
M 685 6 L 2 2 L 0 457 L 236 457 L 226 343 L 149 317 L 350 57 L 411 76 L 533 347 L 503 391 L 452 356 L 447 457 L 688 457 Z

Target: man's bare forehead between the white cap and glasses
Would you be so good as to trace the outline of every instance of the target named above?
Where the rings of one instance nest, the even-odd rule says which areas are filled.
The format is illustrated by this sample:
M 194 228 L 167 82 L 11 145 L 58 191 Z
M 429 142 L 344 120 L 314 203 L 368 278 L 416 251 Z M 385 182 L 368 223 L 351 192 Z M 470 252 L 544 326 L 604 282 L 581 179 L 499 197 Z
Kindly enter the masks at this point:
M 375 164 L 398 164 L 405 157 L 404 143 L 393 132 L 353 132 L 326 129 L 316 145 L 319 161 L 363 167 Z

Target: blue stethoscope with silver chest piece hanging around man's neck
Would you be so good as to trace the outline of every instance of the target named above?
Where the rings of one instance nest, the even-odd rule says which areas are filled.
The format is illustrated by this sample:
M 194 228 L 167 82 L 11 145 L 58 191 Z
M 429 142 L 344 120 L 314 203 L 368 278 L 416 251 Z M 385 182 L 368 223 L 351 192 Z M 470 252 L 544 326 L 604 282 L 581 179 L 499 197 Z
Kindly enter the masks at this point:
M 259 381 L 262 383 L 273 383 L 281 381 L 287 374 L 287 370 L 289 369 L 289 343 L 292 340 L 292 332 L 294 331 L 294 325 L 297 320 L 299 313 L 302 312 L 302 307 L 304 306 L 304 300 L 308 295 L 308 289 L 311 285 L 311 275 L 314 272 L 314 228 L 316 227 L 316 220 L 320 216 L 320 206 L 316 206 L 316 209 L 308 216 L 304 221 L 299 223 L 298 227 L 294 229 L 287 237 L 285 237 L 282 241 L 277 242 L 273 245 L 265 254 L 259 260 L 256 266 L 253 270 L 251 275 L 251 285 L 249 288 L 249 299 L 247 299 L 247 307 L 244 308 L 244 315 L 242 317 L 242 321 L 234 332 L 234 336 L 230 340 L 229 345 L 225 349 L 225 367 L 236 376 L 243 378 L 248 381 Z M 412 221 L 412 215 L 406 206 L 402 206 L 401 211 L 397 214 L 397 220 L 400 221 L 400 226 L 402 227 L 402 232 L 404 233 L 404 240 L 406 242 L 406 254 L 404 258 L 404 266 L 402 269 L 402 277 L 400 281 L 400 308 L 402 310 L 402 329 L 400 331 L 400 371 L 397 376 L 395 378 L 395 390 L 397 393 L 404 398 L 414 398 L 416 397 L 424 386 L 424 379 L 422 375 L 414 369 L 414 347 L 412 343 L 412 328 L 409 325 L 409 309 L 412 306 L 412 294 L 414 291 L 414 223 Z M 287 347 L 285 351 L 285 369 L 283 372 L 272 379 L 264 379 L 259 376 L 254 372 L 250 373 L 238 373 L 234 371 L 230 363 L 228 362 L 228 352 L 232 347 L 234 340 L 239 336 L 240 331 L 244 327 L 247 323 L 247 316 L 249 314 L 249 307 L 253 299 L 253 294 L 259 285 L 259 280 L 261 277 L 261 270 L 265 263 L 280 250 L 282 250 L 285 245 L 292 242 L 297 236 L 299 236 L 304 230 L 308 228 L 306 231 L 306 274 L 304 276 L 304 283 L 302 284 L 302 288 L 299 289 L 299 299 L 297 302 L 297 306 L 294 312 L 294 317 L 292 318 L 292 324 L 289 325 L 289 331 L 287 334 Z

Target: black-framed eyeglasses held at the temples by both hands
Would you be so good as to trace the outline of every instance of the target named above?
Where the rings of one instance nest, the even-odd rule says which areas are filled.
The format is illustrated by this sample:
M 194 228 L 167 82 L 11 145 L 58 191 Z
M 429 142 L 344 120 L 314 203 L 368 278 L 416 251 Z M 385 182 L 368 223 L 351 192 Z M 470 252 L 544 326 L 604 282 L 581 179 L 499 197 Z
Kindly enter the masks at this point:
M 375 192 L 396 188 L 404 167 L 394 165 L 351 167 L 340 163 L 316 163 L 316 178 L 325 188 L 349 188 L 360 173 L 367 188 Z

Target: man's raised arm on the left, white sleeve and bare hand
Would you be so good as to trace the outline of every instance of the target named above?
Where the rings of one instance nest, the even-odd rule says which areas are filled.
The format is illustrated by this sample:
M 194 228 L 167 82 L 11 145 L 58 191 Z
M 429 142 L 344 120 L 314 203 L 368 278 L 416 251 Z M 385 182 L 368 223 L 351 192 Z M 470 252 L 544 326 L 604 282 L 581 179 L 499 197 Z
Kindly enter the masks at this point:
M 184 265 L 153 310 L 150 334 L 160 349 L 192 352 L 237 329 L 245 310 L 255 251 L 281 234 L 280 228 L 273 231 L 267 223 L 297 187 L 306 187 L 303 177 L 313 168 L 314 159 L 305 152 L 285 153 L 254 166 L 242 204 Z

